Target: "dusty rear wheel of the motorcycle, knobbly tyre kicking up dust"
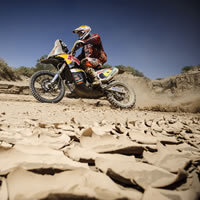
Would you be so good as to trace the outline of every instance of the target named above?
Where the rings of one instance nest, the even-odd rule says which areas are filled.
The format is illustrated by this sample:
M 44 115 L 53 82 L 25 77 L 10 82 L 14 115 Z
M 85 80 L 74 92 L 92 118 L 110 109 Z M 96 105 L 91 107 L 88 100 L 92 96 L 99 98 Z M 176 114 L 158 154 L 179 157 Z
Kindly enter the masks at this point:
M 109 85 L 107 99 L 117 108 L 132 108 L 136 102 L 136 95 L 133 88 L 120 81 L 114 81 Z

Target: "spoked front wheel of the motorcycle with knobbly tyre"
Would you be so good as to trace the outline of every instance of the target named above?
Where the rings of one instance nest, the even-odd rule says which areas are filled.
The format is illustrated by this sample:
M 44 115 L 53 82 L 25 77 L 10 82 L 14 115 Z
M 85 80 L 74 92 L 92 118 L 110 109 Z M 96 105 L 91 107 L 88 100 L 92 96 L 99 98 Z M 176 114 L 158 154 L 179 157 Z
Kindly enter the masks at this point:
M 38 71 L 31 77 L 30 90 L 33 96 L 42 103 L 57 103 L 65 95 L 63 80 L 58 77 L 51 83 L 55 74 L 50 71 Z

